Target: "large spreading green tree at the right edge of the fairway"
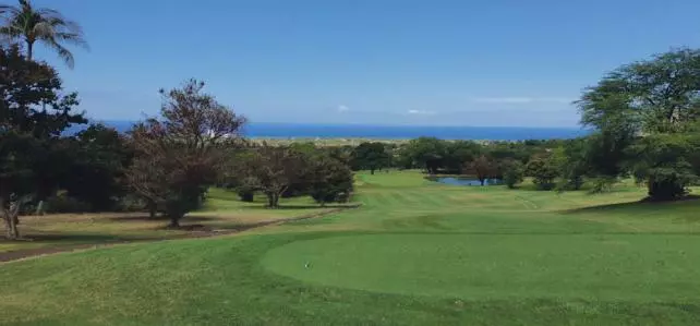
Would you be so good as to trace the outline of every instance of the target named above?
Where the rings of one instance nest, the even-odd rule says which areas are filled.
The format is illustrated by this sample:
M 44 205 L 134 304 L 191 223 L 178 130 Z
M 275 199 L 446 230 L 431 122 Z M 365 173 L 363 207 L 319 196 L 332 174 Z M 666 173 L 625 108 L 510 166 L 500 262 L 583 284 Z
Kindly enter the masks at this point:
M 656 153 L 645 155 L 640 162 L 640 152 L 635 148 L 650 148 L 647 145 L 651 142 L 669 145 L 680 150 L 677 154 L 687 153 L 671 140 L 691 133 L 700 117 L 700 50 L 680 49 L 624 65 L 588 88 L 579 108 L 582 123 L 598 130 L 587 160 L 599 174 L 612 178 L 633 171 L 638 178 L 647 178 L 653 200 L 675 198 L 678 186 L 669 186 L 666 181 L 674 180 L 677 185 L 690 181 L 681 162 L 685 158 L 669 164 L 665 155 Z M 662 170 L 642 172 L 644 167 L 661 166 Z M 664 177 L 656 178 L 659 173 Z

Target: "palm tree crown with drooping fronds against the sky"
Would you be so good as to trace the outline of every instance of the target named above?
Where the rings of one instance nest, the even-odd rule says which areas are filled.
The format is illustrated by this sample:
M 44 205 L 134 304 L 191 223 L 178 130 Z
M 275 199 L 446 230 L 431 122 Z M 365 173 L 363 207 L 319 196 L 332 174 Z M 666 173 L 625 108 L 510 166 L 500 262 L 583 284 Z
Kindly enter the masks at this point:
M 0 36 L 5 40 L 24 43 L 29 60 L 33 59 L 34 44 L 40 41 L 53 49 L 72 69 L 75 63 L 73 53 L 63 44 L 87 48 L 81 26 L 56 10 L 34 8 L 29 0 L 19 2 L 19 5 L 0 4 L 0 16 L 4 19 Z

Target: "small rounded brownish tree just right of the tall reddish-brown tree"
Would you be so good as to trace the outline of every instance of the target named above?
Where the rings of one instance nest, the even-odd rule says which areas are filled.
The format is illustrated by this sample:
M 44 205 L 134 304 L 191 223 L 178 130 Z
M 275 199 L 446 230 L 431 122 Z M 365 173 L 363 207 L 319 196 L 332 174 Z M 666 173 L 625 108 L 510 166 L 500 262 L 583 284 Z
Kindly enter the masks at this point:
M 250 155 L 238 165 L 239 178 L 250 178 L 250 183 L 267 196 L 267 206 L 279 207 L 279 197 L 291 186 L 307 177 L 307 159 L 303 153 L 288 146 L 251 148 Z

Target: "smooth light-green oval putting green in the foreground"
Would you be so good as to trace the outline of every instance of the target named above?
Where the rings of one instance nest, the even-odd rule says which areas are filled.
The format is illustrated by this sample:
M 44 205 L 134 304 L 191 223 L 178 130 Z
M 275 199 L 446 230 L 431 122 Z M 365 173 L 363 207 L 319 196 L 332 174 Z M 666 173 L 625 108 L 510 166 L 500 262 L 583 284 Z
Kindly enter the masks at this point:
M 468 299 L 700 299 L 697 237 L 371 234 L 299 241 L 262 264 L 305 282 Z

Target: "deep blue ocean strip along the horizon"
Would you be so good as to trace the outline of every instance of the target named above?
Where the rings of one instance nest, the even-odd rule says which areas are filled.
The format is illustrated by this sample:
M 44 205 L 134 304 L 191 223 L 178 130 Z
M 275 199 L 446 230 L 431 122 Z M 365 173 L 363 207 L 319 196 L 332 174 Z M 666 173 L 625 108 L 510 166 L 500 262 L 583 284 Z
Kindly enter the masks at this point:
M 101 121 L 126 132 L 133 121 Z M 84 126 L 71 128 L 75 133 Z M 311 124 L 253 122 L 244 128 L 248 137 L 257 138 L 376 138 L 407 140 L 432 136 L 443 140 L 552 140 L 575 138 L 590 131 L 581 128 L 520 128 L 520 126 L 439 126 L 439 125 L 371 125 L 371 124 Z

